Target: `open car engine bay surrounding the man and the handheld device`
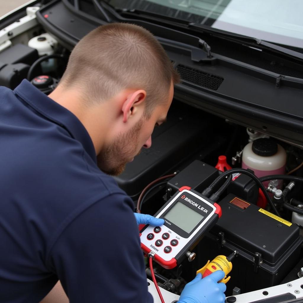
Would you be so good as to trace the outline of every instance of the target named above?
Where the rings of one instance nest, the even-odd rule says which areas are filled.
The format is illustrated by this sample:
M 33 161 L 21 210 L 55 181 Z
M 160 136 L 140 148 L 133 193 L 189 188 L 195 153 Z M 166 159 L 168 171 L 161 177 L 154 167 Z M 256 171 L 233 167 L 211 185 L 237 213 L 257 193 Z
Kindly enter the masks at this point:
M 27 79 L 48 95 L 60 81 L 71 49 L 36 21 L 38 9 L 28 7 L 27 15 L 16 22 L 23 29 L 14 23 L 1 28 L 0 85 L 14 89 Z M 178 71 L 185 81 L 197 77 L 186 66 L 178 65 Z M 214 87 L 223 81 L 219 76 L 205 77 Z M 223 173 L 230 169 L 233 173 L 230 184 L 216 197 L 221 218 L 190 250 L 195 258 L 185 258 L 173 269 L 154 266 L 160 288 L 180 295 L 208 260 L 234 251 L 237 255 L 226 296 L 303 277 L 303 150 L 302 143 L 287 140 L 286 133 L 287 129 L 281 137 L 272 136 L 266 127 L 252 128 L 245 118 L 238 124 L 190 103 L 186 92 L 177 92 L 167 122 L 152 134 L 151 148 L 143 149 L 115 177 L 118 185 L 133 199 L 136 209 L 154 215 L 179 188 L 189 186 L 202 193 Z M 271 202 L 243 169 L 262 182 Z M 303 285 L 298 291 L 301 288 Z

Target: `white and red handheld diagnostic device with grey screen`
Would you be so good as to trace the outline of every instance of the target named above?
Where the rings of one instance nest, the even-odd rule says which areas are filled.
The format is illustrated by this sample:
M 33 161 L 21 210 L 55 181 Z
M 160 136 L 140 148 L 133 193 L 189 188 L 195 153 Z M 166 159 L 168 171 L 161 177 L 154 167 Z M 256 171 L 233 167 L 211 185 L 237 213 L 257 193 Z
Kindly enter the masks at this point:
M 181 263 L 187 251 L 195 247 L 201 236 L 221 217 L 221 207 L 183 186 L 155 214 L 164 219 L 162 226 L 145 227 L 140 231 L 141 248 L 164 268 Z

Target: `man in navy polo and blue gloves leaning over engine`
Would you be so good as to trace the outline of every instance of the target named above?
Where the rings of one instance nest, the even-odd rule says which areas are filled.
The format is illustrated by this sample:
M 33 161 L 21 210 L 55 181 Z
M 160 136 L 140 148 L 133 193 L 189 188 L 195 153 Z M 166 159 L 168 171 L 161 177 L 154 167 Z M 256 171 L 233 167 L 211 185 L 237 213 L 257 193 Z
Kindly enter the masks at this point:
M 75 46 L 49 96 L 0 88 L 1 302 L 39 302 L 58 280 L 72 303 L 153 301 L 137 223 L 164 221 L 135 216 L 110 175 L 151 146 L 176 82 L 151 33 L 113 23 Z M 179 302 L 223 303 L 223 277 L 198 275 Z

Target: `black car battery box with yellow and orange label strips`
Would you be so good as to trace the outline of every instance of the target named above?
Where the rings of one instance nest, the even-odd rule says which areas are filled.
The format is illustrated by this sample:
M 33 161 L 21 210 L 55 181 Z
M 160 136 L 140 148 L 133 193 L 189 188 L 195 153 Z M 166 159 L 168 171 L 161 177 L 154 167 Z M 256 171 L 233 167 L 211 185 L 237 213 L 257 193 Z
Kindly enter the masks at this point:
M 235 287 L 243 293 L 278 285 L 300 258 L 298 226 L 233 194 L 218 204 L 222 216 L 196 248 L 195 269 L 236 250 L 226 295 Z

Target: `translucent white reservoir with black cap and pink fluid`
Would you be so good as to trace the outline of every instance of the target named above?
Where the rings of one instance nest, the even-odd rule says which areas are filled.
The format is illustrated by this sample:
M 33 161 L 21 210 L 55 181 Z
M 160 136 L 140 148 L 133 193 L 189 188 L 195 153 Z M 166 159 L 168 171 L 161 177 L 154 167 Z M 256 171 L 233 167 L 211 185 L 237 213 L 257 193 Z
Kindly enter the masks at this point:
M 258 178 L 267 175 L 283 175 L 285 165 L 284 148 L 271 139 L 257 139 L 248 143 L 243 149 L 242 168 L 252 169 Z M 268 182 L 264 182 L 264 185 L 268 185 Z

